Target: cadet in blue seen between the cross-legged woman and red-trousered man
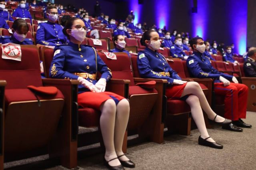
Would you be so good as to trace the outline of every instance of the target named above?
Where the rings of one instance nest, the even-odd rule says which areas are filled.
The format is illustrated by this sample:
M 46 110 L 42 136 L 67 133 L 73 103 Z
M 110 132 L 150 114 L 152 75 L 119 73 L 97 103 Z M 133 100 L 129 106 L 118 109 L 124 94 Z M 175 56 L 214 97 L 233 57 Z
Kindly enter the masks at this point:
M 170 49 L 172 57 L 186 60 L 188 56 L 182 49 L 182 38 L 177 36 L 174 43 L 175 44 L 173 44 Z

